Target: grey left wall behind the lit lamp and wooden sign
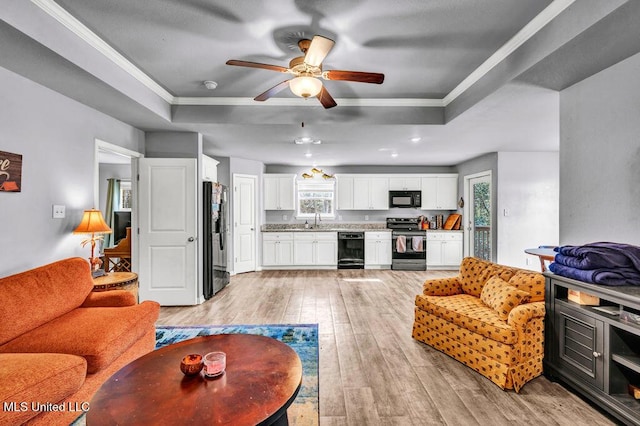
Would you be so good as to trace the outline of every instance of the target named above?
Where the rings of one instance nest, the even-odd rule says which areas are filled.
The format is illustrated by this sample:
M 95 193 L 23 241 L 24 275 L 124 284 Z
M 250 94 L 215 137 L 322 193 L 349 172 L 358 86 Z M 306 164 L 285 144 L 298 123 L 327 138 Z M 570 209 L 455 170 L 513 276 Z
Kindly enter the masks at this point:
M 93 207 L 95 139 L 142 152 L 143 132 L 4 68 L 0 93 L 0 151 L 23 156 L 22 192 L 0 193 L 0 276 L 89 257 L 72 231 Z

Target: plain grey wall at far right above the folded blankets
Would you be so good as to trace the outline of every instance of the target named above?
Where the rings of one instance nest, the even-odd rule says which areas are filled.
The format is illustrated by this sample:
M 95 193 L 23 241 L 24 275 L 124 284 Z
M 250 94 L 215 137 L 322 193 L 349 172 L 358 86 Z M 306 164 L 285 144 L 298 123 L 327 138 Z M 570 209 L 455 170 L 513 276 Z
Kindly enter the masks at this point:
M 640 54 L 560 93 L 560 243 L 640 245 Z

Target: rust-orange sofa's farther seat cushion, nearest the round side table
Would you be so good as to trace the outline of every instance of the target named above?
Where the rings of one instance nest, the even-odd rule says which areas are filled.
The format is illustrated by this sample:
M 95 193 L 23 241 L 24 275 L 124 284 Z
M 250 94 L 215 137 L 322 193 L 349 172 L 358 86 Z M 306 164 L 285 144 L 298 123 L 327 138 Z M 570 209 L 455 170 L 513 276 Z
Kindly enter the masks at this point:
M 77 308 L 0 346 L 0 352 L 79 355 L 93 374 L 105 368 L 155 326 L 160 306 Z

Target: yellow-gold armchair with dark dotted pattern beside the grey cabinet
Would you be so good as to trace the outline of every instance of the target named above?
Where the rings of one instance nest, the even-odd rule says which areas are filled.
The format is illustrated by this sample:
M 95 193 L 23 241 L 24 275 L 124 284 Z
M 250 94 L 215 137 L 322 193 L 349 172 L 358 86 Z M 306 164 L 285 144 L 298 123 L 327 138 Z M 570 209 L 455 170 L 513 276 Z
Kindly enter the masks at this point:
M 464 258 L 457 277 L 423 284 L 413 338 L 519 392 L 542 374 L 544 288 L 540 273 Z

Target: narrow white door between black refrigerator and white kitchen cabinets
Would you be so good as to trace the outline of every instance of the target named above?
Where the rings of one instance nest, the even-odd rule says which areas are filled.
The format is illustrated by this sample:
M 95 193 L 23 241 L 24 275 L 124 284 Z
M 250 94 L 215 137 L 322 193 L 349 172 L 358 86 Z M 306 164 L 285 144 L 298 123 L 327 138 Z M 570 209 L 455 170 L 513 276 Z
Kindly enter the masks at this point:
M 256 176 L 233 175 L 233 270 L 256 270 Z

